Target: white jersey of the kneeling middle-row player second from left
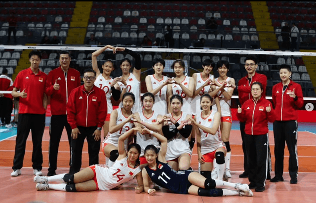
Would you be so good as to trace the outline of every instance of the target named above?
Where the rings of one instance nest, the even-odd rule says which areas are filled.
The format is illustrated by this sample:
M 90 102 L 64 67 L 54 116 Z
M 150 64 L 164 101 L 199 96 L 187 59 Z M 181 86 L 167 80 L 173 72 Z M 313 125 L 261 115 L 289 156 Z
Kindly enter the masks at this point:
M 140 117 L 142 122 L 147 122 L 147 123 L 150 123 L 150 124 L 154 124 L 154 123 L 157 122 L 158 115 L 159 114 L 154 111 L 152 116 L 147 118 L 147 117 L 144 116 L 144 113 L 141 112 L 139 114 L 139 117 Z M 140 145 L 140 149 L 141 149 L 140 157 L 144 156 L 144 150 L 147 147 L 147 145 L 154 145 L 155 147 L 160 148 L 157 138 L 154 137 L 153 135 L 150 135 L 150 134 L 144 134 L 143 135 L 143 134 L 137 132 L 136 143 Z

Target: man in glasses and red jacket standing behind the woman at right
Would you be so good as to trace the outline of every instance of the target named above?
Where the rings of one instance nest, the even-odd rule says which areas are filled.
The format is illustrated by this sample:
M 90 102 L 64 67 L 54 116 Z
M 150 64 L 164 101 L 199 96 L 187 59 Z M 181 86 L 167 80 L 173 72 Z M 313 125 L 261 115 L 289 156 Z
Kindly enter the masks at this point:
M 247 56 L 244 60 L 245 62 L 245 69 L 247 71 L 247 75 L 241 78 L 238 81 L 238 98 L 240 102 L 240 107 L 242 104 L 247 101 L 248 99 L 252 99 L 251 96 L 251 85 L 253 82 L 261 82 L 263 86 L 262 97 L 266 97 L 266 87 L 267 87 L 267 77 L 263 74 L 256 73 L 256 69 L 258 68 L 257 58 L 254 56 Z M 239 178 L 247 178 L 248 177 L 248 159 L 244 144 L 244 128 L 245 123 L 239 122 L 240 125 L 240 133 L 242 139 L 242 151 L 243 151 L 243 167 L 244 172 L 239 175 Z M 270 151 L 269 151 L 270 154 Z M 270 172 L 268 173 L 270 176 Z

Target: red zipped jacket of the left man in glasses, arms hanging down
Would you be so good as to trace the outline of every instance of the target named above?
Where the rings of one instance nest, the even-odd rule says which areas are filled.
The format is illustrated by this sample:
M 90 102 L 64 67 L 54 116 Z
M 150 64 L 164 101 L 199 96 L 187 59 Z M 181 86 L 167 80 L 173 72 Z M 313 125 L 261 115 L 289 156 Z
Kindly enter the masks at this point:
M 93 85 L 87 92 L 84 85 L 74 89 L 67 103 L 67 121 L 71 128 L 102 127 L 107 117 L 108 105 L 104 91 Z

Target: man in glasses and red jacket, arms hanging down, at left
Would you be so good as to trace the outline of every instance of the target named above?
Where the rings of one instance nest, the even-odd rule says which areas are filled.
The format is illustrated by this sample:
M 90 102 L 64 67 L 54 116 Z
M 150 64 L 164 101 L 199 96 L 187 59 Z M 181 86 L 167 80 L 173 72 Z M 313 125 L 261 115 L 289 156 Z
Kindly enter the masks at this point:
M 101 130 L 107 116 L 107 101 L 104 91 L 94 85 L 95 71 L 84 71 L 84 84 L 74 89 L 67 103 L 67 121 L 72 132 L 71 165 L 69 173 L 81 167 L 82 147 L 88 142 L 89 165 L 99 163 Z

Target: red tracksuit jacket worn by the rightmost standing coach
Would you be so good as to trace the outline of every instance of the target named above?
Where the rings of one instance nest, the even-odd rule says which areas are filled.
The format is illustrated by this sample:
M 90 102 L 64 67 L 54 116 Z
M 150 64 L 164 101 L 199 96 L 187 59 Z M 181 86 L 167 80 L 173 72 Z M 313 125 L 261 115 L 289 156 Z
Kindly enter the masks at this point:
M 290 97 L 286 92 L 293 91 L 297 96 L 297 100 Z M 282 82 L 277 83 L 272 88 L 272 100 L 275 105 L 276 121 L 296 121 L 298 119 L 297 109 L 303 107 L 303 92 L 300 84 L 290 81 L 284 93 Z

